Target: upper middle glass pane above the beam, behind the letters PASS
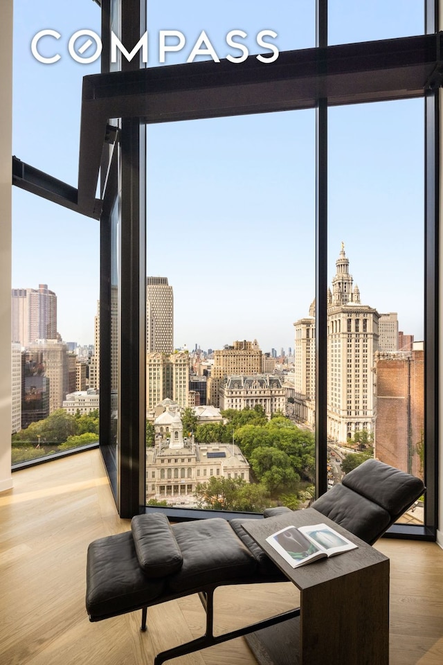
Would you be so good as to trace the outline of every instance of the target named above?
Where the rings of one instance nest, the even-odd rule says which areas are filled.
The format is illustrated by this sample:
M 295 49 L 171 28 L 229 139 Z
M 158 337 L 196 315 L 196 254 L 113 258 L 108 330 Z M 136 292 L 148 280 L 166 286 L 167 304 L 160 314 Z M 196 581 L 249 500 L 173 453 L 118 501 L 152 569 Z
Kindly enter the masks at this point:
M 278 51 L 315 46 L 315 5 L 315 0 L 292 3 L 285 0 L 273 3 L 265 0 L 150 1 L 147 7 L 149 64 L 154 67 L 161 62 L 161 51 L 165 64 L 178 64 L 188 59 L 198 62 L 208 57 L 237 59 L 258 53 L 271 57 L 269 47 L 260 44 L 260 39 L 275 44 Z M 246 35 L 228 37 L 233 30 Z M 272 30 L 276 36 L 260 38 L 262 30 Z M 166 31 L 176 34 L 166 35 Z M 230 44 L 230 39 L 246 49 Z M 199 55 L 199 49 L 206 50 L 206 55 Z

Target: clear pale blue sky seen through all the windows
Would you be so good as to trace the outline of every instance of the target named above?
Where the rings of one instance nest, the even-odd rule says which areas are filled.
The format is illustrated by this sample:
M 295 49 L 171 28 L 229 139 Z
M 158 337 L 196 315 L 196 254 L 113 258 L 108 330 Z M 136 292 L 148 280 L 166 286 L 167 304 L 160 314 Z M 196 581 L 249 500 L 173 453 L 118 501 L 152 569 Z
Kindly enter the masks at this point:
M 150 65 L 159 30 L 180 30 L 184 62 L 201 30 L 220 57 L 228 30 L 278 33 L 280 51 L 314 46 L 314 0 L 239 3 L 148 1 Z M 13 152 L 77 184 L 82 77 L 69 37 L 99 30 L 92 0 L 15 0 Z M 53 28 L 60 62 L 37 62 L 30 41 Z M 422 0 L 329 1 L 329 42 L 422 33 Z M 87 54 L 86 54 L 87 55 Z M 232 55 L 239 55 L 232 52 Z M 266 67 L 266 65 L 263 65 Z M 235 65 L 233 65 L 235 67 Z M 422 100 L 329 112 L 329 280 L 341 241 L 364 304 L 398 312 L 422 337 Z M 263 351 L 293 347 L 293 322 L 314 292 L 315 114 L 263 114 L 148 127 L 147 273 L 174 287 L 174 342 L 220 348 L 256 338 Z M 99 294 L 98 222 L 13 191 L 13 287 L 47 283 L 58 296 L 66 341 L 93 342 Z

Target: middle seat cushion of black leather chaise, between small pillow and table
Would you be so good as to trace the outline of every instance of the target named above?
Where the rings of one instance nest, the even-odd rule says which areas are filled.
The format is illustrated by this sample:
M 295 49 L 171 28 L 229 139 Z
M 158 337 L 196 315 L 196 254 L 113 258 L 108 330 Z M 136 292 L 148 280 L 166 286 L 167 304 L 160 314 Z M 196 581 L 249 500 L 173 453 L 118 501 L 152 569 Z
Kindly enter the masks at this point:
M 183 556 L 183 566 L 167 579 L 173 592 L 200 589 L 257 573 L 257 562 L 228 522 L 211 517 L 199 522 L 174 524 L 172 531 Z

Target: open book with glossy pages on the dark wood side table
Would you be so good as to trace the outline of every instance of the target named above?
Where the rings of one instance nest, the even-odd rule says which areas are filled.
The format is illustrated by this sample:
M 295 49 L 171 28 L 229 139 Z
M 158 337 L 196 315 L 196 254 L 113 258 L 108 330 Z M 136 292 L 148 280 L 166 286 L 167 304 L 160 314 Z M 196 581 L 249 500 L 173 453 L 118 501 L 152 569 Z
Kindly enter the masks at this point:
M 293 568 L 357 547 L 327 524 L 285 526 L 266 538 L 266 541 Z

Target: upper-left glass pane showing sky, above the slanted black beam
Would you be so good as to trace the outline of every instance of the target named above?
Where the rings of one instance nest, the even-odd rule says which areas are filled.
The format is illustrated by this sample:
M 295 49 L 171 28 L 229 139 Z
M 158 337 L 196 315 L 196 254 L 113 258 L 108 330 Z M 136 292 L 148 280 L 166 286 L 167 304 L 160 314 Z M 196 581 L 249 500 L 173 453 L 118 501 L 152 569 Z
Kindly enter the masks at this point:
M 43 36 L 36 49 L 42 57 L 60 55 L 53 64 L 39 62 L 30 48 L 33 37 L 48 28 L 60 38 Z M 90 0 L 14 1 L 14 154 L 73 186 L 78 179 L 82 78 L 100 71 L 100 58 L 80 64 L 69 54 L 69 39 L 84 28 L 100 35 L 100 10 Z M 80 37 L 75 45 L 79 48 L 87 39 Z M 84 57 L 94 49 L 91 44 Z M 60 207 L 53 211 L 57 218 Z

